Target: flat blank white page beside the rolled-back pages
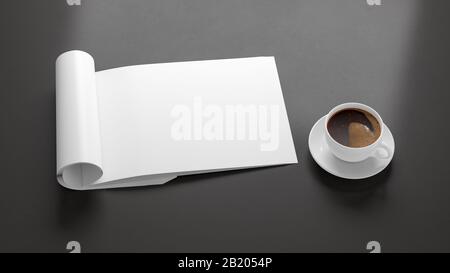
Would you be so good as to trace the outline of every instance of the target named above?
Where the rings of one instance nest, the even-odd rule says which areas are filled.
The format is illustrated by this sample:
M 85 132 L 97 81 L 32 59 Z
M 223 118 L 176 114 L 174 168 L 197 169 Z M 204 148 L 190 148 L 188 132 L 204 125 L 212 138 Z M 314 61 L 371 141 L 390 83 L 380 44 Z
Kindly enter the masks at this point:
M 297 162 L 273 57 L 128 66 L 95 82 L 94 184 Z

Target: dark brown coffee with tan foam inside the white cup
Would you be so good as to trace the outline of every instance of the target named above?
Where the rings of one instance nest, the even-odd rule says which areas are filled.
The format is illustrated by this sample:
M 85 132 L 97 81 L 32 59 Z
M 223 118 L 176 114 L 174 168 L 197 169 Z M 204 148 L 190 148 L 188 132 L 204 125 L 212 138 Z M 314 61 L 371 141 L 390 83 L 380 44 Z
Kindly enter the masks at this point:
M 353 108 L 335 113 L 327 129 L 334 140 L 352 148 L 369 146 L 381 134 L 380 124 L 372 114 Z

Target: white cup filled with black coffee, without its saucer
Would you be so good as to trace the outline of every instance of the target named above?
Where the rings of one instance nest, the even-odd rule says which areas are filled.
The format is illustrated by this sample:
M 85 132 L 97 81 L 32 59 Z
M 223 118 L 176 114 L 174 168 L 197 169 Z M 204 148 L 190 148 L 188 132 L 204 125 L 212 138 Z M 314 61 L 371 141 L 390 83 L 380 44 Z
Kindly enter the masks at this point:
M 380 115 L 371 107 L 362 103 L 343 103 L 326 115 L 325 138 L 330 151 L 341 160 L 388 159 L 392 149 L 383 140 L 384 127 Z

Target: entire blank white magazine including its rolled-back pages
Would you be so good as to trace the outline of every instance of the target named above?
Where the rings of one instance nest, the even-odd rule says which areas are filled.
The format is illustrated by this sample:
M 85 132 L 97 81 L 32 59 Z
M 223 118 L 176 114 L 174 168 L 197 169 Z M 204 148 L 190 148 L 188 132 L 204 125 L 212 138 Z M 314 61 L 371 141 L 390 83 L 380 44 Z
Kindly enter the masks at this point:
M 162 184 L 179 175 L 297 163 L 273 57 L 95 72 L 56 61 L 57 175 L 77 190 Z

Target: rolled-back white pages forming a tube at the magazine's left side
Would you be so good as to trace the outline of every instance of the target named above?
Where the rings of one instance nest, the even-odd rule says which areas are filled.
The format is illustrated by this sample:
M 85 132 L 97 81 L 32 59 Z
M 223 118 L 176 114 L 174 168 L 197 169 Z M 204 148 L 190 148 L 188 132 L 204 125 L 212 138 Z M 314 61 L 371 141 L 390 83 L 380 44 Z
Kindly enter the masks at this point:
M 102 174 L 95 65 L 91 55 L 66 52 L 56 60 L 57 174 L 82 189 Z

